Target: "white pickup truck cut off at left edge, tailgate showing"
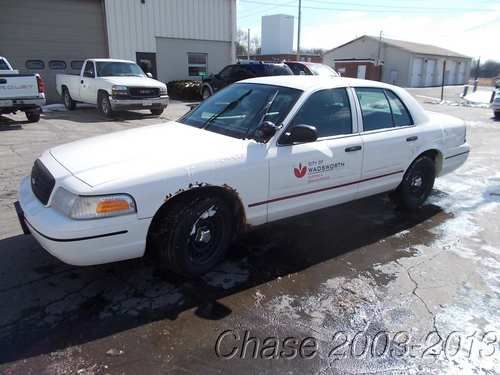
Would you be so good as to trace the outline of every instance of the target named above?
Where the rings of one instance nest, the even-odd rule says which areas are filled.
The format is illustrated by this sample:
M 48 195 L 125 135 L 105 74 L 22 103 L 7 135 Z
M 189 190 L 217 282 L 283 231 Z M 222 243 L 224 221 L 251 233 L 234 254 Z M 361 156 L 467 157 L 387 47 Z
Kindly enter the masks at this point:
M 29 122 L 40 120 L 45 84 L 38 74 L 19 74 L 0 56 L 0 115 L 23 111 Z

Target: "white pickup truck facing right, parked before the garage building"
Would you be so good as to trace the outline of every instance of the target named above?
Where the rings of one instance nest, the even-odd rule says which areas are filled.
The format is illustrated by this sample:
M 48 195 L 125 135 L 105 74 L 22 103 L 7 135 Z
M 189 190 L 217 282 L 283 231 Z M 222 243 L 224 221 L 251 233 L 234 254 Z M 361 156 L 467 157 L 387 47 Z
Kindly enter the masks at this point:
M 79 75 L 58 74 L 56 89 L 67 109 L 94 104 L 106 117 L 129 109 L 149 109 L 159 116 L 168 105 L 167 86 L 128 60 L 87 59 Z

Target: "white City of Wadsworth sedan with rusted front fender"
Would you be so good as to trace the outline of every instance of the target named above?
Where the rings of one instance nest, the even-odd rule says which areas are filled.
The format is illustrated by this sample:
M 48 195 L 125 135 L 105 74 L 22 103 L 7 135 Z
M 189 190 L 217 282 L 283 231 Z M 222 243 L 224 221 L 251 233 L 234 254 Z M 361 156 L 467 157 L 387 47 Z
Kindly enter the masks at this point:
M 434 179 L 468 153 L 462 120 L 426 112 L 399 87 L 255 78 L 178 121 L 46 151 L 21 182 L 18 213 L 66 263 L 147 250 L 162 268 L 195 276 L 221 261 L 247 225 L 384 192 L 417 210 Z

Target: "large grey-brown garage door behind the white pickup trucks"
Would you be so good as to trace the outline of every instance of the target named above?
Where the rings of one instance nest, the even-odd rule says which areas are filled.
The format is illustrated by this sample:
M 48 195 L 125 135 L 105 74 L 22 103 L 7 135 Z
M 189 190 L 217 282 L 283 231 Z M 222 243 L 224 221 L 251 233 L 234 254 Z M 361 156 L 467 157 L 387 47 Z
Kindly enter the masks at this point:
M 0 9 L 0 55 L 14 69 L 39 73 L 49 101 L 59 100 L 57 73 L 108 56 L 101 0 L 0 0 Z

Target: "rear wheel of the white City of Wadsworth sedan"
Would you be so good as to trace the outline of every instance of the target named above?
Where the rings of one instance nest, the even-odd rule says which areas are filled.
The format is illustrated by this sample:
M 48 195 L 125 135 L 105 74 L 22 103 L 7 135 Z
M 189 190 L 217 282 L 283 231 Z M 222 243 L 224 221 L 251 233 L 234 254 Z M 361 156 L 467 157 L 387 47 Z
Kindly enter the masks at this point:
M 428 156 L 418 157 L 390 197 L 404 211 L 416 211 L 429 197 L 436 179 L 436 166 Z

